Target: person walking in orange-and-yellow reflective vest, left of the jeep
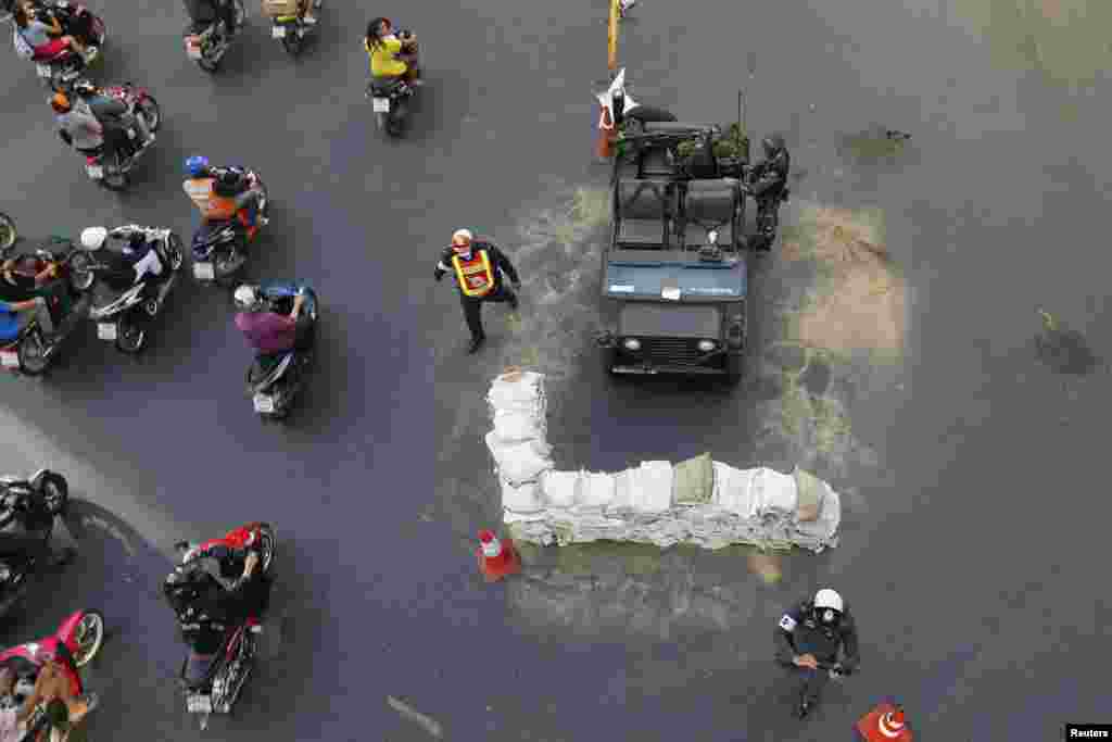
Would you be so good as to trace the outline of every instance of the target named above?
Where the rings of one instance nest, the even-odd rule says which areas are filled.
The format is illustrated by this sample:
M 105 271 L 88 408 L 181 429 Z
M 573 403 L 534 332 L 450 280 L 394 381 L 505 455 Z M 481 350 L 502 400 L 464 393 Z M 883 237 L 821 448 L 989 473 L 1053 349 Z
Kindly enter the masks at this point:
M 467 229 L 457 229 L 451 236 L 451 247 L 445 249 L 436 264 L 436 280 L 445 274 L 455 273 L 459 301 L 464 307 L 464 319 L 471 332 L 471 343 L 467 353 L 475 353 L 486 340 L 483 332 L 483 303 L 508 301 L 517 309 L 517 294 L 506 287 L 503 274 L 509 277 L 515 289 L 522 288 L 522 279 L 509 258 L 492 243 L 474 239 Z

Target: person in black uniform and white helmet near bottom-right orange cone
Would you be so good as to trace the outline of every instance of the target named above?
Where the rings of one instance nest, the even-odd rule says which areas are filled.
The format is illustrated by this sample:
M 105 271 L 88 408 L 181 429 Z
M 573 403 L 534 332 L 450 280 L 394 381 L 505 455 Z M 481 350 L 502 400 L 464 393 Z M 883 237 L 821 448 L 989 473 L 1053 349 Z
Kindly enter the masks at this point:
M 814 598 L 803 601 L 788 611 L 776 625 L 776 661 L 793 673 L 803 675 L 796 715 L 803 719 L 818 702 L 831 673 L 853 672 L 861 657 L 857 650 L 857 627 L 850 606 L 830 588 L 820 590 Z M 845 654 L 838 670 L 820 667 L 838 665 L 838 651 Z

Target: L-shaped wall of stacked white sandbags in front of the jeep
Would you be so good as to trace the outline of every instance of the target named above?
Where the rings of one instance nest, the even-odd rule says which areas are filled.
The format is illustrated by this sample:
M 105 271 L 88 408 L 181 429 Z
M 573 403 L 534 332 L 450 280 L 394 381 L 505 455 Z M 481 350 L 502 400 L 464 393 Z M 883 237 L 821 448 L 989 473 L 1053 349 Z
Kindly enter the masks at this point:
M 795 468 L 738 469 L 709 454 L 644 462 L 616 474 L 557 471 L 546 442 L 544 375 L 507 369 L 490 385 L 486 435 L 503 520 L 536 544 L 627 541 L 667 548 L 748 544 L 818 553 L 837 545 L 842 505 L 826 482 Z

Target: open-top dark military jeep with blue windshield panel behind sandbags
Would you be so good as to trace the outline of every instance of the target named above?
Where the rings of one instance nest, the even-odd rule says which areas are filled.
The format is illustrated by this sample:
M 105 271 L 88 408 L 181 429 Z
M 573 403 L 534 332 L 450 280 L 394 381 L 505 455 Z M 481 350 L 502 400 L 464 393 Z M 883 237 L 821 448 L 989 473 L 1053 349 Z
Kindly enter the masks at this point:
M 721 128 L 645 122 L 615 167 L 598 343 L 612 374 L 744 370 L 747 152 L 715 157 Z M 693 142 L 686 148 L 683 142 Z M 746 142 L 747 144 L 747 142 Z M 723 161 L 727 160 L 727 161 Z M 729 175 L 726 175 L 729 174 Z

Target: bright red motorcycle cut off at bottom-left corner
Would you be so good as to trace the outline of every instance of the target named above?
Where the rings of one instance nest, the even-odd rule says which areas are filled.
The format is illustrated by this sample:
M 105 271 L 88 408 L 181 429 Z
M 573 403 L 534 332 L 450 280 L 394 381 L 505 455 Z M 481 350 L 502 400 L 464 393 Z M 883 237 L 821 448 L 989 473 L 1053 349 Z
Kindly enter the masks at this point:
M 49 660 L 59 662 L 66 670 L 75 695 L 83 693 L 77 671 L 92 662 L 103 643 L 103 614 L 99 611 L 78 611 L 67 616 L 53 635 L 0 652 L 0 665 L 7 665 L 16 673 L 13 700 L 17 705 L 22 705 L 31 695 L 39 671 Z

